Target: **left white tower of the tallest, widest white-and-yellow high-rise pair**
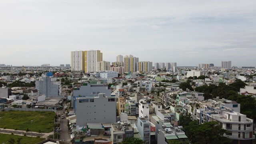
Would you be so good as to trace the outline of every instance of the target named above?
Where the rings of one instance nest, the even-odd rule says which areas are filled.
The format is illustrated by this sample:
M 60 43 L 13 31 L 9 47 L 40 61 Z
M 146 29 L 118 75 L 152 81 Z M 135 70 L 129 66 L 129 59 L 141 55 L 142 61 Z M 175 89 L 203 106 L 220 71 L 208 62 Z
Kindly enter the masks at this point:
M 84 71 L 84 51 L 71 52 L 71 70 Z

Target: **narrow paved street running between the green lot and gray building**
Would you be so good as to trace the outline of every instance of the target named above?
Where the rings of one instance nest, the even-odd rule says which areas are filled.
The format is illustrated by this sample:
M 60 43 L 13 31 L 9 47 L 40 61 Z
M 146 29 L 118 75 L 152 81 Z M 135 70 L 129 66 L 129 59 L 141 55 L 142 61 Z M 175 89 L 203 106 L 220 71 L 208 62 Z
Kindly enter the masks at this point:
M 65 106 L 66 104 L 63 104 L 63 107 Z M 60 140 L 63 140 L 65 142 L 70 142 L 70 134 L 69 134 L 69 130 L 68 130 L 68 120 L 66 119 L 67 118 L 67 115 L 66 113 L 64 114 L 63 113 L 64 110 L 61 110 L 62 114 L 64 115 L 64 118 L 61 118 L 60 119 L 60 132 L 61 132 L 61 135 L 60 135 Z

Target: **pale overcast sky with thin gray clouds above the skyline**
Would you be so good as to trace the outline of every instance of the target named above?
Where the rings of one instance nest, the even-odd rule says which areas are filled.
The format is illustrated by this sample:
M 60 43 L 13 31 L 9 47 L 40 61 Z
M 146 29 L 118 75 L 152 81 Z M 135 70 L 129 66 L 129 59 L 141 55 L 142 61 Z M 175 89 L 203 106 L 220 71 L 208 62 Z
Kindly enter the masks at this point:
M 177 66 L 256 64 L 256 0 L 2 0 L 0 64 L 70 64 L 76 50 Z

